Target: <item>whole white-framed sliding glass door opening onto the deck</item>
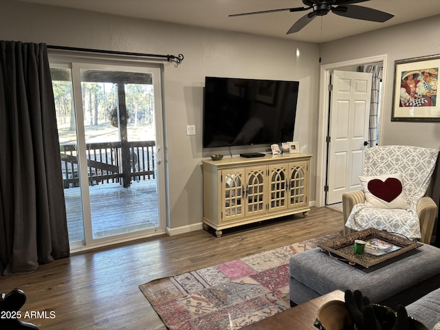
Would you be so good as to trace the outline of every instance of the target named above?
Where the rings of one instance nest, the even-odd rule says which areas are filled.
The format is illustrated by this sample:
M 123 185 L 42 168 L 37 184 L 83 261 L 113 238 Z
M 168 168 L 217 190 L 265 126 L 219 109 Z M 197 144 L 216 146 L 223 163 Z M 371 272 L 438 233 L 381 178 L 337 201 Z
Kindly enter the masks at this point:
M 159 68 L 51 70 L 72 250 L 164 232 Z

